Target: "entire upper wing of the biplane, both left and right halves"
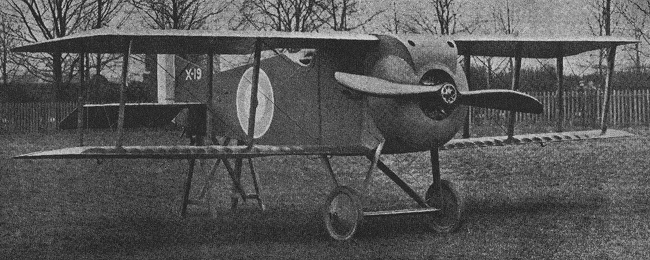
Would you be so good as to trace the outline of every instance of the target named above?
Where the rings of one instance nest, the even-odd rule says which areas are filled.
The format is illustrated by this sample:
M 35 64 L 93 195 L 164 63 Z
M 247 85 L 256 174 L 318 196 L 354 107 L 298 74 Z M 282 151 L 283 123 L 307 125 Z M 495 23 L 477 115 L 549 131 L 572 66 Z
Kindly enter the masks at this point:
M 435 36 L 432 36 L 435 37 Z M 13 51 L 64 53 L 131 53 L 152 54 L 249 54 L 255 41 L 264 49 L 273 48 L 354 48 L 366 50 L 376 46 L 379 38 L 369 34 L 340 32 L 305 33 L 276 31 L 207 31 L 207 30 L 117 30 L 102 28 L 57 39 L 32 43 Z M 637 40 L 612 37 L 507 37 L 455 36 L 459 55 L 522 58 L 557 58 L 611 46 L 637 43 Z M 518 54 L 517 54 L 518 53 Z

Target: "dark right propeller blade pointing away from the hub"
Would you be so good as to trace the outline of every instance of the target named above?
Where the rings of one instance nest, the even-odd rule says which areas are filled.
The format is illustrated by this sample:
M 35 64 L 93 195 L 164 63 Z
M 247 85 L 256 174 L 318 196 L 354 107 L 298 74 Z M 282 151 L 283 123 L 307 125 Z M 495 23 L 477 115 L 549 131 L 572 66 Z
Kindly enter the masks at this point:
M 544 110 L 542 103 L 534 97 L 507 89 L 463 91 L 456 102 L 462 105 L 522 113 L 541 114 Z

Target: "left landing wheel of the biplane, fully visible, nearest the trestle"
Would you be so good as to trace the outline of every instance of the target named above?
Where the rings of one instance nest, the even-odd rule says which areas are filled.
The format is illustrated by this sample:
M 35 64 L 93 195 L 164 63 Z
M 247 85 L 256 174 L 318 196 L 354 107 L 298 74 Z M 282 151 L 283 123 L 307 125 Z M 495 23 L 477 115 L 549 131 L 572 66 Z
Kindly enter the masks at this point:
M 354 189 L 338 186 L 327 196 L 323 220 L 330 237 L 336 240 L 350 239 L 362 217 L 359 194 Z

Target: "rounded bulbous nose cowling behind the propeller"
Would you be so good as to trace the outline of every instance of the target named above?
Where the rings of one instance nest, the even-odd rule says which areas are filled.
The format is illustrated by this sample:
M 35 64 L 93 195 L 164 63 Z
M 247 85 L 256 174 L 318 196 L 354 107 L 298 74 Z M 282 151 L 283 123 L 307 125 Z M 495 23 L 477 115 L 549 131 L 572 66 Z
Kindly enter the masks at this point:
M 371 56 L 371 64 L 366 63 L 370 65 L 367 68 L 371 68 L 367 74 L 396 83 L 422 84 L 421 78 L 415 74 L 406 47 L 399 41 L 382 40 L 384 40 L 383 46 L 379 48 L 379 53 Z M 384 53 L 381 53 L 382 49 Z M 456 77 L 451 75 L 448 77 L 456 79 L 465 77 L 462 71 L 457 74 Z M 462 81 L 464 83 L 464 78 Z M 459 86 L 456 86 L 455 82 L 447 83 L 461 91 L 467 88 L 466 84 L 461 82 Z M 467 110 L 464 106 L 457 106 L 449 109 L 449 113 L 442 117 L 431 116 L 425 110 L 431 104 L 438 106 L 436 103 L 439 103 L 437 100 L 439 98 L 436 96 L 368 97 L 375 125 L 386 139 L 384 153 L 427 151 L 437 149 L 451 140 L 462 127 Z

